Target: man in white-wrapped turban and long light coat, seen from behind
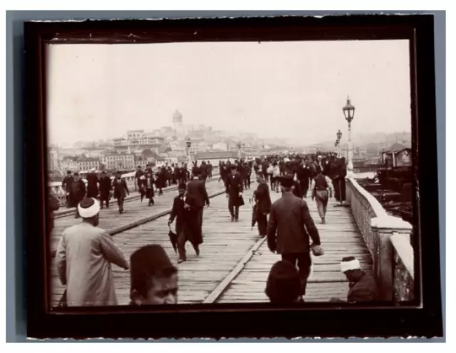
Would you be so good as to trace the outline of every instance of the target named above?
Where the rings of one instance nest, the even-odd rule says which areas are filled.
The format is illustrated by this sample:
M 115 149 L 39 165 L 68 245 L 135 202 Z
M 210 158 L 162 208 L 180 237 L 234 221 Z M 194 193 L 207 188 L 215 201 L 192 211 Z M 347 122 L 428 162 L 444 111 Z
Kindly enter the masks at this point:
M 105 230 L 98 227 L 100 203 L 84 198 L 83 221 L 63 231 L 58 242 L 58 277 L 66 286 L 66 305 L 117 305 L 111 263 L 128 270 L 128 262 Z

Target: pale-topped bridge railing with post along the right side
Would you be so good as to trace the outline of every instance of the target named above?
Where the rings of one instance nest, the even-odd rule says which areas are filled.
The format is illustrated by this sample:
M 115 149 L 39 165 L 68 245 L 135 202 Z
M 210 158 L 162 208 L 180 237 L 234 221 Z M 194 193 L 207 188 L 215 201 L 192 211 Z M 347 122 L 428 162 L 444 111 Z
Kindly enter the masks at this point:
M 414 298 L 412 225 L 388 215 L 383 206 L 356 179 L 346 180 L 347 201 L 373 260 L 373 272 L 385 301 Z

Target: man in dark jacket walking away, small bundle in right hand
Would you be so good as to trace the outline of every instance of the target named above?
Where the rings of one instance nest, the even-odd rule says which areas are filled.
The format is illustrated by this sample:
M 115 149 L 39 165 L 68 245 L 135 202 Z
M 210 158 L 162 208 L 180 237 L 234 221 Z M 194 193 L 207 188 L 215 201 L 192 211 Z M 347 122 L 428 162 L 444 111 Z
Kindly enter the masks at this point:
M 320 256 L 323 255 L 323 248 L 306 201 L 293 195 L 293 181 L 291 175 L 281 178 L 282 197 L 272 204 L 267 242 L 269 250 L 280 254 L 282 260 L 289 261 L 294 266 L 297 263 L 305 294 L 307 278 L 311 272 L 310 251 L 315 256 Z

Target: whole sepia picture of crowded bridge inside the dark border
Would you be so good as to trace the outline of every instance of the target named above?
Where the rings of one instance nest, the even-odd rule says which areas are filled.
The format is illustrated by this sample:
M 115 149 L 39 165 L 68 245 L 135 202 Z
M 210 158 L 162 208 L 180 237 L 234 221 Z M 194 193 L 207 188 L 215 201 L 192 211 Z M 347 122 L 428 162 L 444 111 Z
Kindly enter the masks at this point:
M 415 302 L 408 40 L 45 49 L 49 307 Z

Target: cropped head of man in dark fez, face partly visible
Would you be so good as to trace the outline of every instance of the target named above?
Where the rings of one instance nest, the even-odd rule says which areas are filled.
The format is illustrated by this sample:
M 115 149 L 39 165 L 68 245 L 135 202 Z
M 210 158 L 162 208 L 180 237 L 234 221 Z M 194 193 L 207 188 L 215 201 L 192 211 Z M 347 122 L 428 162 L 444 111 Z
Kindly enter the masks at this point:
M 133 252 L 130 285 L 130 305 L 177 304 L 177 268 L 160 245 Z

